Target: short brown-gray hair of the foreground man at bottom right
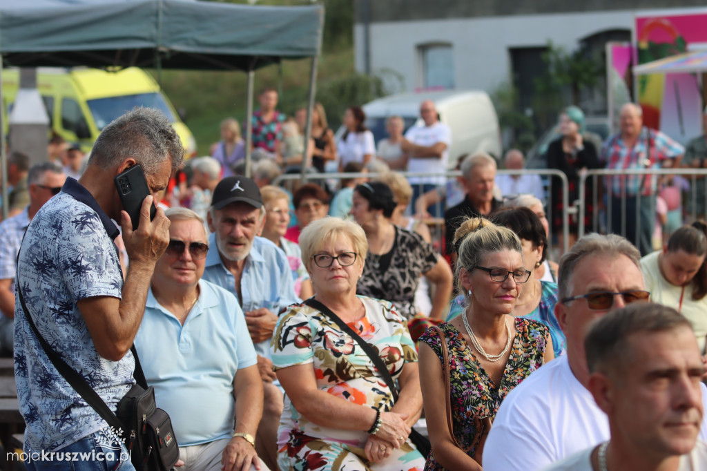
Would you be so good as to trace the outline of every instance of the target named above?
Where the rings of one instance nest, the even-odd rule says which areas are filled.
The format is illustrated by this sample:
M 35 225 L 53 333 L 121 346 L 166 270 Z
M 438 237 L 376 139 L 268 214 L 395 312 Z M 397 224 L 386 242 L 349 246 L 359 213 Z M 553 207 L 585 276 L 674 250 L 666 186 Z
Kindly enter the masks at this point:
M 633 359 L 629 337 L 638 332 L 667 332 L 679 327 L 692 330 L 684 315 L 656 303 L 631 303 L 602 316 L 584 340 L 590 373 L 621 373 Z M 619 371 L 617 371 L 617 368 Z M 617 379 L 621 374 L 616 375 Z

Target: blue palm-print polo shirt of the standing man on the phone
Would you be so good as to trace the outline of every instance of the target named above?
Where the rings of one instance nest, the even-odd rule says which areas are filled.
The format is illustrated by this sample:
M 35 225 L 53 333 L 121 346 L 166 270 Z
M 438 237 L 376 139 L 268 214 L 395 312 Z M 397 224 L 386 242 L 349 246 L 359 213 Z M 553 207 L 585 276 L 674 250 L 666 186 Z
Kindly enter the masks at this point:
M 131 352 L 119 361 L 100 356 L 76 301 L 121 298 L 122 272 L 113 243 L 118 233 L 90 192 L 67 178 L 62 192 L 30 222 L 16 279 L 42 337 L 113 410 L 134 384 L 134 358 Z M 107 426 L 47 358 L 19 297 L 15 379 L 27 425 L 26 452 L 58 450 Z

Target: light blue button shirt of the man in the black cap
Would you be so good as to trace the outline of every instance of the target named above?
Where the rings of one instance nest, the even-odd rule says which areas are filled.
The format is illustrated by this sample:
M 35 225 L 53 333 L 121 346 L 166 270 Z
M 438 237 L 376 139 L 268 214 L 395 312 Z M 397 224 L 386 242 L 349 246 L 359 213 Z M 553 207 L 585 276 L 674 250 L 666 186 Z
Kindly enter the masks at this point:
M 216 246 L 216 234 L 209 236 L 209 253 L 206 255 L 206 270 L 203 279 L 211 281 L 233 296 L 235 277 L 221 261 Z M 287 306 L 300 303 L 295 294 L 290 263 L 285 252 L 270 240 L 256 237 L 250 254 L 245 259 L 245 268 L 240 277 L 240 294 L 243 296 L 243 310 L 248 312 L 257 308 L 267 308 L 279 315 Z M 270 358 L 270 340 L 255 344 L 255 351 L 260 356 Z

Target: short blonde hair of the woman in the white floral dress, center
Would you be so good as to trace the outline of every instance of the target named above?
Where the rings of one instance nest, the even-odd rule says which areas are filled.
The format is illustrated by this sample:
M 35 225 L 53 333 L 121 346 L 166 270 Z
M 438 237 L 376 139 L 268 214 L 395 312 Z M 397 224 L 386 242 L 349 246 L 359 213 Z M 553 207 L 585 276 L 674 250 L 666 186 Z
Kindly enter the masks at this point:
M 339 236 L 346 236 L 354 245 L 357 254 L 356 263 L 363 265 L 368 252 L 368 239 L 363 228 L 354 221 L 348 219 L 325 216 L 317 221 L 312 221 L 300 233 L 300 250 L 302 250 L 302 261 L 305 267 L 312 271 L 312 257 L 322 246 L 336 240 Z

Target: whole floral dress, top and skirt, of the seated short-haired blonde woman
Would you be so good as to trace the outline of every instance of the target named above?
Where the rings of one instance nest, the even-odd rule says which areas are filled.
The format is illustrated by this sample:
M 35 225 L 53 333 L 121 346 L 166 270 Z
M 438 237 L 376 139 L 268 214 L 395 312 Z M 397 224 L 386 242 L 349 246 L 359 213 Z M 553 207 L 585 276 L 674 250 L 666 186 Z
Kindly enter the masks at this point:
M 407 322 L 387 301 L 359 296 L 366 316 L 349 324 L 378 349 L 393 379 L 417 361 Z M 343 400 L 390 411 L 390 390 L 358 343 L 320 311 L 298 304 L 281 315 L 272 340 L 275 370 L 312 364 L 317 387 Z M 332 412 L 333 413 L 333 412 Z M 408 440 L 382 463 L 366 460 L 366 431 L 332 429 L 299 414 L 288 395 L 278 429 L 278 465 L 285 470 L 420 471 L 423 456 Z

